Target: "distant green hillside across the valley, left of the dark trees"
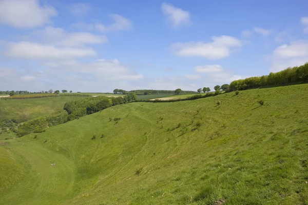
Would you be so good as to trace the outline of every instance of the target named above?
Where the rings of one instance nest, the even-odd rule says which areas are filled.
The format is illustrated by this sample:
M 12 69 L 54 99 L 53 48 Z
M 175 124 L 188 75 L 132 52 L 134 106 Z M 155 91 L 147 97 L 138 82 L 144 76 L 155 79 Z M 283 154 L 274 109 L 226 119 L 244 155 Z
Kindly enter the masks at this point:
M 0 120 L 19 119 L 22 114 L 27 114 L 28 119 L 45 116 L 63 109 L 67 101 L 78 100 L 84 97 L 44 97 L 31 99 L 0 100 Z

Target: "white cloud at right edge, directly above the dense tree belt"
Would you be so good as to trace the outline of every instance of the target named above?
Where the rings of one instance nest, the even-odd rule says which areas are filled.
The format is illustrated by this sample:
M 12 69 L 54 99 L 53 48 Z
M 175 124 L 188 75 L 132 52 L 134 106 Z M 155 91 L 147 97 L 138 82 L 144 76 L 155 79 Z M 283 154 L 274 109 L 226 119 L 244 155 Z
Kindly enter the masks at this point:
M 308 40 L 296 40 L 283 44 L 273 52 L 271 72 L 278 72 L 288 67 L 301 66 L 308 61 Z

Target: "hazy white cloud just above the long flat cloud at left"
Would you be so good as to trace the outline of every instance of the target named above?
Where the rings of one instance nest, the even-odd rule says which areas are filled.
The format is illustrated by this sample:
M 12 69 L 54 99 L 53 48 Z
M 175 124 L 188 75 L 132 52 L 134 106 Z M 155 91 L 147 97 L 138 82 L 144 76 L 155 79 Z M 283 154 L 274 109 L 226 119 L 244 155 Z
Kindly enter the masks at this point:
M 36 40 L 55 46 L 84 46 L 86 44 L 102 44 L 108 42 L 105 35 L 93 35 L 87 32 L 67 32 L 62 28 L 46 27 L 44 30 L 34 31 Z

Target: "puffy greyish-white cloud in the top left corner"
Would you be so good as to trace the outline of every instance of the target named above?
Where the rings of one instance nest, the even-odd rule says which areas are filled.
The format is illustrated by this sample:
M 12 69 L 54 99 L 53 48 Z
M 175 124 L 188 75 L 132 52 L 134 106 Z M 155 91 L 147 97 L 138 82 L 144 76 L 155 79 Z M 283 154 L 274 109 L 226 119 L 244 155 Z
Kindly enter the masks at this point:
M 0 24 L 15 28 L 43 26 L 57 14 L 51 6 L 40 6 L 38 0 L 2 0 L 0 4 Z

